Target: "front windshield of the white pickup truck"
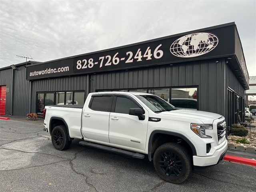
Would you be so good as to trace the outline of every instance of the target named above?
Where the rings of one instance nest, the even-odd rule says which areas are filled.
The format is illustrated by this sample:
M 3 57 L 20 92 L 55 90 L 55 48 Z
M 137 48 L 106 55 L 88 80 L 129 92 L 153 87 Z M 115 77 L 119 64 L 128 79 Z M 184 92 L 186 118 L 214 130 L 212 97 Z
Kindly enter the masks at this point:
M 159 113 L 163 111 L 176 110 L 173 105 L 166 102 L 155 95 L 136 95 L 146 106 L 148 106 L 153 112 Z

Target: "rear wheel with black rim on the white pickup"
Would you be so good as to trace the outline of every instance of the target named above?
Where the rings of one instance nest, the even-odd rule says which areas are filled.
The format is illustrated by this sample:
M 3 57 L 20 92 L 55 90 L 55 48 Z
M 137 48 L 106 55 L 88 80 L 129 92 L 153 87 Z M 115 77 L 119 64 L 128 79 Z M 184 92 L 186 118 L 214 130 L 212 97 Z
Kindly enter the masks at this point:
M 72 140 L 68 140 L 66 126 L 58 125 L 52 130 L 52 144 L 58 150 L 65 150 L 70 147 Z

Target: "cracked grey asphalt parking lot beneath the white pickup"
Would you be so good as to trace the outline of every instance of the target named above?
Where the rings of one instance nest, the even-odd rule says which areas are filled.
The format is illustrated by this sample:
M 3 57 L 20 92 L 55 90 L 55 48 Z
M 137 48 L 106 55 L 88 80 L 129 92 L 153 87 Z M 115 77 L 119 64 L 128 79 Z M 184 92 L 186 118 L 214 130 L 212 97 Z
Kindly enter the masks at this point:
M 222 161 L 193 172 L 182 184 L 161 180 L 147 158 L 138 160 L 80 146 L 52 146 L 43 121 L 0 119 L 2 192 L 254 192 L 256 167 Z

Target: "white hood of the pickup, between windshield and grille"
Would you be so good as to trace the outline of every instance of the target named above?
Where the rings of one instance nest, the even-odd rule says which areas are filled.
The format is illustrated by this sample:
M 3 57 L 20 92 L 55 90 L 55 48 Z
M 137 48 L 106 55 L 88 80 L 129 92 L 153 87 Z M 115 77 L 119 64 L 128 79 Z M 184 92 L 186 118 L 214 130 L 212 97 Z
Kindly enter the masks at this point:
M 200 120 L 204 124 L 212 124 L 213 120 L 222 117 L 222 115 L 216 114 L 216 113 L 197 111 L 197 110 L 188 110 L 188 109 L 164 111 L 164 112 L 161 112 L 160 114 L 174 116 L 174 117 L 176 116 L 176 117 L 180 117 L 180 118 Z

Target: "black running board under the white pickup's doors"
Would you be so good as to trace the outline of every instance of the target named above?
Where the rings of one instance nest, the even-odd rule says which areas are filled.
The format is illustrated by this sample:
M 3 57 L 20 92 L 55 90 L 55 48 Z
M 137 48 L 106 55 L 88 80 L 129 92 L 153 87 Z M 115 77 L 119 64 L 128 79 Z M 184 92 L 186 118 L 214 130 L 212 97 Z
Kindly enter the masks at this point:
M 94 147 L 94 148 L 98 148 L 98 149 L 102 149 L 102 150 L 106 150 L 106 151 L 110 151 L 110 152 L 124 154 L 124 155 L 127 155 L 127 156 L 131 156 L 133 158 L 138 158 L 138 159 L 144 159 L 145 158 L 145 156 L 143 154 L 140 154 L 140 153 L 126 151 L 126 150 L 113 148 L 113 147 L 109 147 L 109 146 L 105 146 L 105 145 L 101 145 L 101 144 L 91 143 L 91 142 L 87 142 L 87 141 L 80 141 L 79 144 L 83 145 L 83 146 L 89 146 L 89 147 Z

